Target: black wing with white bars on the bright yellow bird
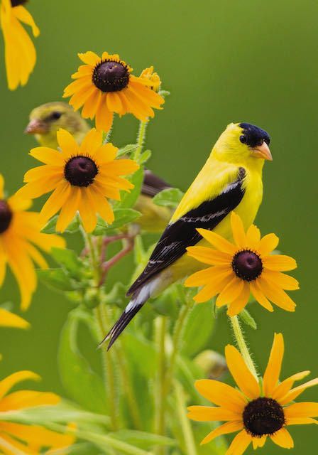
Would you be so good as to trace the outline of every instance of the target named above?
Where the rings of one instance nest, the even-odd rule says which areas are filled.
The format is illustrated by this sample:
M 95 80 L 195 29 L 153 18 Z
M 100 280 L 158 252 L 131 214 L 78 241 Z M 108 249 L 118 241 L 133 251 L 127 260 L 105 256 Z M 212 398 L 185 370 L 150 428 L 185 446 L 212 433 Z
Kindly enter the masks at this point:
M 236 181 L 229 183 L 219 196 L 205 201 L 165 228 L 146 268 L 128 290 L 127 295 L 133 294 L 150 277 L 184 255 L 187 247 L 199 242 L 202 236 L 197 232 L 197 228 L 214 229 L 231 210 L 237 207 L 244 196 L 243 178 L 245 176 L 245 169 L 239 168 Z

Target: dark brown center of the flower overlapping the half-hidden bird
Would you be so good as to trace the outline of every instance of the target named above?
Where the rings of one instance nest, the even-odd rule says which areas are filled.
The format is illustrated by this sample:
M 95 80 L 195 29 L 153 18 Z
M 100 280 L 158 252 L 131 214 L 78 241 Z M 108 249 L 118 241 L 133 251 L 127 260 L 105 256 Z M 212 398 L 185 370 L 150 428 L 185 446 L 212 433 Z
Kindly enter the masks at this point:
M 74 156 L 64 168 L 64 176 L 73 186 L 89 186 L 97 173 L 96 164 L 88 156 Z

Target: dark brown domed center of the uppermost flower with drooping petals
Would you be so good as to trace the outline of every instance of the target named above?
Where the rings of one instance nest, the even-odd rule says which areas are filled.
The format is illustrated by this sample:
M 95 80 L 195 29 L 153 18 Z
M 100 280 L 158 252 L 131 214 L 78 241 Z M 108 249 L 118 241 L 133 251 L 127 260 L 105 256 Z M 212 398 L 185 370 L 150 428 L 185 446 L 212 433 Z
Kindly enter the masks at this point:
M 119 92 L 128 85 L 128 68 L 111 60 L 102 62 L 94 68 L 92 80 L 102 92 Z

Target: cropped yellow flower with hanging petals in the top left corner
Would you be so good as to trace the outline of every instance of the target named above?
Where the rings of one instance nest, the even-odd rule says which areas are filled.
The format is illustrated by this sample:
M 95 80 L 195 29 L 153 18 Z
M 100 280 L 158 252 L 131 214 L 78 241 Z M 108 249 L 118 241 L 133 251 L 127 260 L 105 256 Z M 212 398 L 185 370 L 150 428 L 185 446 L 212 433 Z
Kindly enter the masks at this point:
M 33 42 L 21 23 L 31 26 L 33 36 L 40 31 L 31 14 L 22 6 L 26 0 L 2 0 L 0 22 L 4 33 L 6 77 L 10 90 L 26 85 L 36 62 Z

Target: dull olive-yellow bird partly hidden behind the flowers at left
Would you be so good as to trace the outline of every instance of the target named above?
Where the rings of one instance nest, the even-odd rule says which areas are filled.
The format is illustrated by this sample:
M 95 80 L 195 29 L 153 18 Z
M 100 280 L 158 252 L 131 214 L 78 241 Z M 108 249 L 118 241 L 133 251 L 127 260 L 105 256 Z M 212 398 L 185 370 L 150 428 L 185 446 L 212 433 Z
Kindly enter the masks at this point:
M 41 146 L 57 149 L 56 133 L 60 128 L 70 132 L 80 144 L 90 126 L 86 120 L 82 119 L 79 112 L 74 112 L 70 105 L 55 101 L 33 109 L 25 132 L 34 134 Z M 141 230 L 162 232 L 169 222 L 172 210 L 156 205 L 152 201 L 153 196 L 165 188 L 170 188 L 170 185 L 149 169 L 145 170 L 141 196 L 134 207 L 141 212 L 141 217 L 136 220 L 136 224 Z

